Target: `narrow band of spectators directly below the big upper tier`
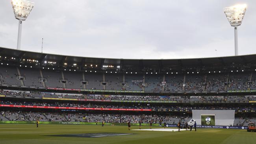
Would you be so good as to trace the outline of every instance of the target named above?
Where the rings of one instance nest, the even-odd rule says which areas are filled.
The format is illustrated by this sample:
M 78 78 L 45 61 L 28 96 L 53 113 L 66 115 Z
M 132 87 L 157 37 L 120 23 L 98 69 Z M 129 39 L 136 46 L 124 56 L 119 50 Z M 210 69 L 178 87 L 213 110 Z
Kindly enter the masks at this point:
M 0 90 L 0 94 L 23 98 L 74 98 L 91 100 L 128 100 L 128 101 L 175 101 L 175 102 L 249 102 L 255 101 L 256 96 L 124 96 L 99 94 L 64 94 L 49 92 Z

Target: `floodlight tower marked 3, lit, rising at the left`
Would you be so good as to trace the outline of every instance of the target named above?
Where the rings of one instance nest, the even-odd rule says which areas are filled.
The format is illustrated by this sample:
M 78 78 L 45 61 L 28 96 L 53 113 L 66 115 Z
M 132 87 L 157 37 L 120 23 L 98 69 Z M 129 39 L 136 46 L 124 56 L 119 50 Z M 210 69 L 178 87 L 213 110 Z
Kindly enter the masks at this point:
M 23 20 L 26 20 L 30 14 L 34 7 L 34 2 L 29 2 L 26 0 L 12 0 L 11 5 L 13 6 L 15 18 L 19 20 L 17 50 L 20 50 L 22 22 Z

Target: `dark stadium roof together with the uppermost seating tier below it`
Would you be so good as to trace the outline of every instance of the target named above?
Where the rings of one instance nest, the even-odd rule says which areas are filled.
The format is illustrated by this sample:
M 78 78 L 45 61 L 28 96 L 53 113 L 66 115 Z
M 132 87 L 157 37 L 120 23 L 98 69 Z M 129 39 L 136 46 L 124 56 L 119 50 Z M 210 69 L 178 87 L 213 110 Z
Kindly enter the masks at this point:
M 105 59 L 0 48 L 0 85 L 100 92 L 254 92 L 256 55 Z

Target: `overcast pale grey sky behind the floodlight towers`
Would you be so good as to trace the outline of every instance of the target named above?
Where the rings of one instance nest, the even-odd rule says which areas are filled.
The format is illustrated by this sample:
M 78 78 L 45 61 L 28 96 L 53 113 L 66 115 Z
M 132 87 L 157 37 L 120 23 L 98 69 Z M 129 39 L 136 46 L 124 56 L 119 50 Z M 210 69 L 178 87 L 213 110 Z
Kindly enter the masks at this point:
M 21 49 L 84 57 L 173 59 L 234 55 L 223 7 L 247 4 L 239 54 L 256 54 L 256 0 L 30 0 Z M 0 46 L 17 47 L 11 0 L 0 0 Z M 217 51 L 216 51 L 217 50 Z

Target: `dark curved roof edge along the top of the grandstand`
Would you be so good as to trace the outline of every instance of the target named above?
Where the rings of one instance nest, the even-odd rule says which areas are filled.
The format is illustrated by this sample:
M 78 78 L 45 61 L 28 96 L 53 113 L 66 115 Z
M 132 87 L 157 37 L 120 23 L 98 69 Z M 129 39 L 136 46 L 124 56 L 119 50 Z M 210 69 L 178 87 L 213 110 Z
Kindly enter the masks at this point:
M 113 58 L 95 58 L 95 57 L 79 57 L 71 55 L 46 54 L 39 52 L 30 52 L 24 50 L 15 50 L 0 47 L 0 56 L 16 57 L 17 62 L 22 59 L 36 59 L 39 63 L 44 61 L 55 61 L 59 66 L 64 63 L 77 66 L 86 64 L 98 65 L 119 65 L 121 69 L 189 69 L 189 68 L 225 68 L 230 66 L 255 66 L 256 54 L 239 55 L 228 57 L 209 57 L 209 58 L 192 58 L 192 59 L 113 59 Z M 1 58 L 0 58 L 1 59 Z

